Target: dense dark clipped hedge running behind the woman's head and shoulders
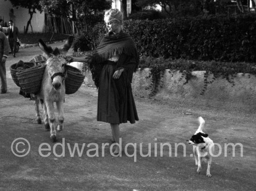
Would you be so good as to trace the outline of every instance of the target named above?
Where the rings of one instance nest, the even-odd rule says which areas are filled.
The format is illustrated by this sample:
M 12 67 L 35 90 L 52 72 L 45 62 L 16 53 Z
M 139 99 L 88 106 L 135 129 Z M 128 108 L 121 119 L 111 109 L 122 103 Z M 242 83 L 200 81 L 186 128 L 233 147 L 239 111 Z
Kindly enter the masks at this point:
M 105 28 L 104 23 L 98 23 L 84 35 L 90 47 L 96 48 L 106 33 Z M 140 54 L 145 56 L 256 62 L 256 16 L 251 14 L 125 20 L 124 31 L 132 36 Z

